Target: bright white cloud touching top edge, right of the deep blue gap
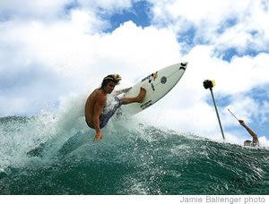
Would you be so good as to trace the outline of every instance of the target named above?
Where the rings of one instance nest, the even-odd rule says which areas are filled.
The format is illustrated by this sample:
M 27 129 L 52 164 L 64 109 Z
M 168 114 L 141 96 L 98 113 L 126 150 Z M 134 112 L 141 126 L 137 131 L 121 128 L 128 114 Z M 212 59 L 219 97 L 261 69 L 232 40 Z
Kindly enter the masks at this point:
M 154 21 L 181 22 L 178 30 L 184 30 L 186 23 L 192 23 L 195 28 L 204 30 L 220 29 L 221 23 L 240 16 L 246 11 L 251 1 L 152 1 Z M 194 14 L 195 13 L 195 14 Z M 171 25 L 173 26 L 173 25 Z

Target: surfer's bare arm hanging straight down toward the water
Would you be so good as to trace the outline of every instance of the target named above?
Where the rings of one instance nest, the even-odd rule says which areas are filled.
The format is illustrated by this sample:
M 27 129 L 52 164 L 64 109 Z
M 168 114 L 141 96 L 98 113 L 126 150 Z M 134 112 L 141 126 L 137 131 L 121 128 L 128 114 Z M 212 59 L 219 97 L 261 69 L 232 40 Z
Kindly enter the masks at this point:
M 106 98 L 98 98 L 94 106 L 93 124 L 96 131 L 96 136 L 93 141 L 101 140 L 103 135 L 100 132 L 100 115 L 105 106 Z

